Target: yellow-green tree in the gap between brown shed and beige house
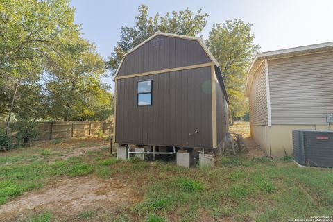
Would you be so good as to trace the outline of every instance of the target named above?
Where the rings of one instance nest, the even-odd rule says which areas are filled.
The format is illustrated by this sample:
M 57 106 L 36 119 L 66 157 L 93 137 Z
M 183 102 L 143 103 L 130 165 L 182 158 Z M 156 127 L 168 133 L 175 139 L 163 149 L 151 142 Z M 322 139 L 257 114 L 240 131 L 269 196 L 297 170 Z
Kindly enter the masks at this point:
M 253 25 L 241 19 L 228 20 L 224 24 L 213 26 L 205 41 L 221 67 L 225 87 L 230 97 L 230 120 L 242 117 L 248 111 L 244 96 L 246 70 L 259 46 L 254 44 Z

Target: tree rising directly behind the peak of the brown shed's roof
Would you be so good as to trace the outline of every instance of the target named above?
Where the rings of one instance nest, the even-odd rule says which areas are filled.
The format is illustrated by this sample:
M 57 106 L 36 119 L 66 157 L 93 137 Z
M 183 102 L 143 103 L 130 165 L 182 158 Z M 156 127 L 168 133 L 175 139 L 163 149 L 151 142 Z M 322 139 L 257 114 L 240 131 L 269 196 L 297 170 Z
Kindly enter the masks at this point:
M 201 10 L 198 10 L 194 15 L 194 12 L 189 8 L 179 12 L 173 11 L 171 15 L 167 13 L 164 17 L 160 17 L 158 13 L 154 17 L 148 17 L 148 6 L 139 6 L 139 15 L 135 17 L 135 26 L 121 27 L 120 40 L 109 56 L 108 68 L 114 75 L 123 55 L 157 31 L 180 35 L 198 35 L 207 24 L 207 17 L 208 15 L 202 14 Z

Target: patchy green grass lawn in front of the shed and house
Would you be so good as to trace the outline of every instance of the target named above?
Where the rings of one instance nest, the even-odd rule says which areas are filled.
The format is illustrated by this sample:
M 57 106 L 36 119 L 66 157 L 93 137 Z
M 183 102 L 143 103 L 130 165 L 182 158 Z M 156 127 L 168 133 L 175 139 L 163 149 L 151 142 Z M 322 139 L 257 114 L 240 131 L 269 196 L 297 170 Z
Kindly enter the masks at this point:
M 91 177 L 119 179 L 133 189 L 135 201 L 119 204 L 116 211 L 98 205 L 72 215 L 71 221 L 287 221 L 333 212 L 333 171 L 298 167 L 290 157 L 221 157 L 211 173 L 205 168 L 176 167 L 172 161 L 118 161 L 103 140 L 52 143 L 0 153 L 0 210 L 26 191 L 62 178 Z M 96 145 L 85 155 L 64 156 L 68 149 Z M 14 219 L 68 217 L 39 209 Z

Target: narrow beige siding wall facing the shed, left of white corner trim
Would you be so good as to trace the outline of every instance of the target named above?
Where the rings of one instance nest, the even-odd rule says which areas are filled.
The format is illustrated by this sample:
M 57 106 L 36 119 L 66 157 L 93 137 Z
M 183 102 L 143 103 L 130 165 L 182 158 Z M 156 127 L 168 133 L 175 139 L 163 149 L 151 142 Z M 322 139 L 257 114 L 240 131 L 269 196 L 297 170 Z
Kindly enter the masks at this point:
M 268 116 L 264 62 L 255 73 L 248 99 L 250 104 L 250 126 L 266 126 Z

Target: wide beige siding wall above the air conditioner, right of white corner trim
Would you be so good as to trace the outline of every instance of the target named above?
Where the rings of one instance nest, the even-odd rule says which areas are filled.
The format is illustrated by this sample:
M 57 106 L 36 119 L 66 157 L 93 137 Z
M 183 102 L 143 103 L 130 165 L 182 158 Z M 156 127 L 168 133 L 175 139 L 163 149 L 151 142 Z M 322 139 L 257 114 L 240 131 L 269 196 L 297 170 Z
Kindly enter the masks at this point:
M 325 124 L 333 112 L 333 52 L 268 60 L 272 124 Z

